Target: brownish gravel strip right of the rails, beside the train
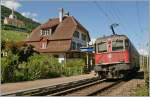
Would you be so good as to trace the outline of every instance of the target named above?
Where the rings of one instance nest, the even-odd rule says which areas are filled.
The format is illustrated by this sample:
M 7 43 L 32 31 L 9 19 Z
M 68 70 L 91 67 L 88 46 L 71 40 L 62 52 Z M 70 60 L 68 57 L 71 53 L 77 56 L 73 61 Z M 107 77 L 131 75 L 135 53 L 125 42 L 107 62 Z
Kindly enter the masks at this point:
M 144 85 L 144 79 L 143 79 L 143 72 L 139 72 L 138 75 L 129 80 L 129 81 L 124 81 L 123 84 L 120 84 L 114 88 L 110 88 L 106 93 L 102 93 L 101 96 L 107 95 L 107 96 L 132 96 L 134 90 L 137 87 L 140 87 Z M 100 94 L 98 94 L 100 95 Z

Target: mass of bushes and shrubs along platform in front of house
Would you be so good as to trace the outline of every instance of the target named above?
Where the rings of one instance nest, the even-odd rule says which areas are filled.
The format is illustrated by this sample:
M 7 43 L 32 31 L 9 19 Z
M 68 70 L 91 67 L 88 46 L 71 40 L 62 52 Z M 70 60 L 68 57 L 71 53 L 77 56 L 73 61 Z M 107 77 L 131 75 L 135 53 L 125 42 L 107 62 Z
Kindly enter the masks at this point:
M 60 64 L 56 58 L 39 54 L 33 46 L 24 42 L 3 41 L 2 45 L 3 52 L 8 53 L 1 58 L 2 82 L 72 76 L 84 72 L 83 60 L 69 60 L 66 64 Z

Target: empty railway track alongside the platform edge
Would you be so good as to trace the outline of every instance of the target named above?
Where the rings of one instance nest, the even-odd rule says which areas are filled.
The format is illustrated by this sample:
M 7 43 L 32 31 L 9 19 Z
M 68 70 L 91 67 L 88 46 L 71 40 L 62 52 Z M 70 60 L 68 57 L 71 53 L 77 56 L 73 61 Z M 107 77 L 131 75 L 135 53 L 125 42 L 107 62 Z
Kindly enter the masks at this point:
M 45 95 L 54 95 L 57 94 L 58 92 L 62 92 L 64 90 L 68 90 L 71 88 L 75 87 L 80 87 L 85 84 L 92 83 L 99 83 L 102 80 L 100 80 L 98 77 L 93 77 L 89 79 L 83 79 L 83 80 L 78 80 L 78 81 L 73 81 L 69 83 L 63 83 L 63 84 L 58 84 L 58 85 L 53 85 L 53 86 L 46 86 L 46 87 L 40 87 L 40 88 L 32 88 L 32 89 L 27 89 L 27 90 L 20 90 L 20 91 L 15 91 L 15 92 L 9 92 L 9 93 L 2 93 L 2 96 L 45 96 Z

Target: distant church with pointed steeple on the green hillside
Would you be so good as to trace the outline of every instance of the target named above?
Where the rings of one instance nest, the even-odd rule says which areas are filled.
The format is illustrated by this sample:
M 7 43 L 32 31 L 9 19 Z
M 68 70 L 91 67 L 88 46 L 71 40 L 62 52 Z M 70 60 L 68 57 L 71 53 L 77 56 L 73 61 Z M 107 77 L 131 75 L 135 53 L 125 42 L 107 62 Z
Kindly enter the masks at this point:
M 25 26 L 24 22 L 21 20 L 18 20 L 17 16 L 14 15 L 13 9 L 12 9 L 12 13 L 9 15 L 9 17 L 5 17 L 4 24 L 13 25 L 16 27 L 24 27 Z

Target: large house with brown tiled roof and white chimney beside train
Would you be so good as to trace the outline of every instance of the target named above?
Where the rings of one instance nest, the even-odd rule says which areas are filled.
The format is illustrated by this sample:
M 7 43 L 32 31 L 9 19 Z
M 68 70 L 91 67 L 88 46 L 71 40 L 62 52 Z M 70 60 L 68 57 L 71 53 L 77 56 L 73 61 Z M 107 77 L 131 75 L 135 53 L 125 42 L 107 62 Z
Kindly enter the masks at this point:
M 89 32 L 63 9 L 60 9 L 59 18 L 49 19 L 34 29 L 26 40 L 38 52 L 57 57 L 60 63 L 83 57 L 79 48 L 89 41 Z

